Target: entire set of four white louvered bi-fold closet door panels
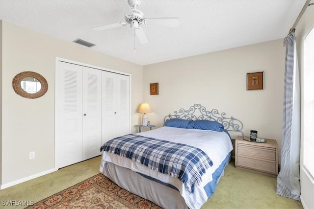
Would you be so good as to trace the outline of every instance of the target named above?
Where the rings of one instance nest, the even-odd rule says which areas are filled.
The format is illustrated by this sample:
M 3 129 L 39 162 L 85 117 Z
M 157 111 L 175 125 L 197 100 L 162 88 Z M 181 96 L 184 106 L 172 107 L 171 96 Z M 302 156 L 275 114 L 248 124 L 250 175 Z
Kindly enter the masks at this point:
M 116 130 L 112 138 L 130 133 L 130 77 L 62 61 L 56 70 L 55 166 L 60 168 L 100 155 L 107 133 Z

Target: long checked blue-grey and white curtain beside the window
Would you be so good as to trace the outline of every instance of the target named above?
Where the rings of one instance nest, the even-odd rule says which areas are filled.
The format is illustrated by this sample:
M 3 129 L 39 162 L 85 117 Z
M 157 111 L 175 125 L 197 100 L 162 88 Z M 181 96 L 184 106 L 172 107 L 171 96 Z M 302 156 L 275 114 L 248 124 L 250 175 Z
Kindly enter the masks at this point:
M 276 193 L 300 201 L 300 80 L 295 34 L 291 30 L 286 46 L 281 170 Z

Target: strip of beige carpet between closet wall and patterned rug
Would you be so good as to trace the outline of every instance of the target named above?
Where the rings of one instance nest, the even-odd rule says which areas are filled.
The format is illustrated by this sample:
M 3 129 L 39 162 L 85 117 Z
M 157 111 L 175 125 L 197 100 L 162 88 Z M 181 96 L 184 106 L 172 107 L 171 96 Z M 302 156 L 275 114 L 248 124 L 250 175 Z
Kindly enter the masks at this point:
M 99 174 L 101 156 L 61 168 L 50 174 L 0 190 L 0 209 L 24 209 L 26 206 L 3 205 L 2 201 L 36 203 L 70 186 Z M 8 202 L 8 203 L 9 203 Z M 12 202 L 14 204 L 14 202 Z

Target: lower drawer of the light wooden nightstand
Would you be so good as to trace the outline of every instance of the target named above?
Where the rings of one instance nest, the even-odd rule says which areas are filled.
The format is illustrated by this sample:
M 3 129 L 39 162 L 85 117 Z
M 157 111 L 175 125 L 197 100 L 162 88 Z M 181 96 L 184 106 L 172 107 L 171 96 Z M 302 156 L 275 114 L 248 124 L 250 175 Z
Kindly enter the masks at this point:
M 267 172 L 270 174 L 277 174 L 276 173 L 276 162 L 268 162 L 268 161 L 262 161 L 258 159 L 252 159 L 247 157 L 241 157 L 237 156 L 237 165 L 249 168 L 249 169 L 255 169 L 262 172 Z

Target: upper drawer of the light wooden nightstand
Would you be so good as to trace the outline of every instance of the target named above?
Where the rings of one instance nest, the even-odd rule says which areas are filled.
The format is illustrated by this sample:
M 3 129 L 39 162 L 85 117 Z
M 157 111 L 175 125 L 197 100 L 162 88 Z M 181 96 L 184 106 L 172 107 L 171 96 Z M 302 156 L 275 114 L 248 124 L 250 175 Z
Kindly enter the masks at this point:
M 276 149 L 238 143 L 237 144 L 237 155 L 250 156 L 250 157 L 258 159 L 258 160 L 265 159 L 265 160 L 275 161 Z

